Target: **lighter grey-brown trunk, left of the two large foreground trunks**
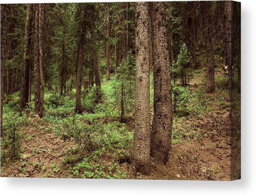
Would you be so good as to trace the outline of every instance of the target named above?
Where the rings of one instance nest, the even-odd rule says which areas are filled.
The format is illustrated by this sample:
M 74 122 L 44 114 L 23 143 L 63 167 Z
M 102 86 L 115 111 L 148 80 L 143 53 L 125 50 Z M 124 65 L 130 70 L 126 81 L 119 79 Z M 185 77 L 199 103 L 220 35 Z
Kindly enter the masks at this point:
M 135 128 L 131 162 L 138 172 L 149 173 L 150 95 L 149 95 L 149 7 L 136 3 Z

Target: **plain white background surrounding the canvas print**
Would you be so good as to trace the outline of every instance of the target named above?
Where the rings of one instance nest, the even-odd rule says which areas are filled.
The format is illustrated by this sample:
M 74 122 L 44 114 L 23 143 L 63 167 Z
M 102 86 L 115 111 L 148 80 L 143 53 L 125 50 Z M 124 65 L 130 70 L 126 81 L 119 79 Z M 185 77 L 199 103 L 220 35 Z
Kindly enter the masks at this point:
M 93 2 L 86 0 L 0 0 L 0 3 Z M 95 2 L 107 2 L 99 1 Z M 0 178 L 0 195 L 255 195 L 256 193 L 256 1 L 241 0 L 242 18 L 242 179 L 239 181 L 164 181 Z

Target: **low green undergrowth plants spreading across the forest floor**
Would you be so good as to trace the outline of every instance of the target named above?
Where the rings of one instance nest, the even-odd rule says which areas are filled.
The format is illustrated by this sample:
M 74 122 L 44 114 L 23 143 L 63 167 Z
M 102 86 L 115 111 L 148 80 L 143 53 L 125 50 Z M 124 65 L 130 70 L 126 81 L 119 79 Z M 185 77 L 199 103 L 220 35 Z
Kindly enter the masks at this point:
M 225 128 L 222 118 L 219 119 L 217 130 L 210 132 L 200 126 L 194 128 L 190 124 L 205 120 L 212 112 L 225 113 L 229 108 L 227 85 L 222 85 L 227 82 L 227 76 L 223 75 L 222 70 L 216 74 L 216 91 L 220 94 L 216 93 L 213 97 L 205 94 L 204 80 L 194 79 L 201 76 L 203 71 L 192 72 L 191 85 L 177 85 L 177 89 L 173 87 L 177 94 L 177 112 L 174 114 L 170 141 L 173 145 L 188 141 L 200 142 L 204 137 L 214 138 L 228 134 L 222 132 Z M 12 161 L 21 165 L 21 176 L 27 176 L 27 169 L 33 167 L 40 173 L 41 176 L 38 177 L 57 177 L 62 172 L 62 177 L 125 179 L 128 173 L 122 168 L 122 164 L 129 162 L 129 149 L 132 147 L 134 131 L 133 116 L 127 114 L 124 123 L 120 123 L 120 108 L 114 104 L 113 96 L 113 87 L 117 81 L 113 78 L 109 82 L 103 82 L 103 102 L 95 104 L 93 97 L 96 97 L 96 91 L 93 88 L 82 96 L 82 103 L 87 109 L 83 114 L 74 113 L 75 89 L 66 96 L 46 90 L 45 116 L 42 119 L 33 115 L 33 102 L 21 112 L 19 92 L 10 95 L 3 108 L 5 123 L 1 141 L 1 172 L 8 172 L 6 166 Z M 153 92 L 153 80 L 150 90 Z M 151 108 L 153 109 L 153 102 Z M 30 130 L 29 133 L 32 134 L 21 130 Z M 43 160 L 30 162 L 31 157 L 46 151 L 55 154 L 51 149 L 40 146 L 36 146 L 32 153 L 27 154 L 22 143 L 24 140 L 37 143 L 37 131 L 43 135 L 54 135 L 64 142 L 60 146 L 65 150 L 60 154 L 58 166 L 56 162 L 45 165 Z M 140 175 L 137 178 L 141 178 Z

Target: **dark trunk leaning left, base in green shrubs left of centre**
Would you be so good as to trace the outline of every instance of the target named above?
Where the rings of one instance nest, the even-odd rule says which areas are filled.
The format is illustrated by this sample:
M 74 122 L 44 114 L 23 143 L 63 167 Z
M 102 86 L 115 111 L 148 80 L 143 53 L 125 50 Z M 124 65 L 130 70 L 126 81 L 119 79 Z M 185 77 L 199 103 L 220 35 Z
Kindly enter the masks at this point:
M 94 78 L 95 78 L 95 84 L 97 87 L 97 96 L 99 99 L 102 97 L 102 91 L 101 91 L 101 81 L 100 81 L 100 70 L 99 70 L 99 64 L 98 64 L 98 53 L 94 46 L 96 46 L 96 41 L 95 41 L 95 35 L 93 32 L 93 29 L 91 27 L 91 41 L 93 44 L 93 67 L 94 67 Z

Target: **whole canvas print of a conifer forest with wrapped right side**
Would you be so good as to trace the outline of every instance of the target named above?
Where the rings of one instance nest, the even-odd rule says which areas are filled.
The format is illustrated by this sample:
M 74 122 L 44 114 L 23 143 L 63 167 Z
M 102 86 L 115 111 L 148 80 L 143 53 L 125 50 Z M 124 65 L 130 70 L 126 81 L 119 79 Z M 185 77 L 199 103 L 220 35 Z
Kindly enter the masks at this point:
M 241 178 L 241 3 L 1 4 L 1 177 Z

